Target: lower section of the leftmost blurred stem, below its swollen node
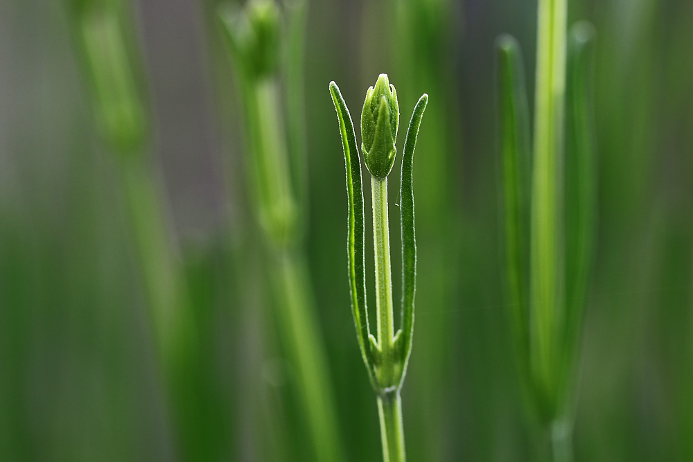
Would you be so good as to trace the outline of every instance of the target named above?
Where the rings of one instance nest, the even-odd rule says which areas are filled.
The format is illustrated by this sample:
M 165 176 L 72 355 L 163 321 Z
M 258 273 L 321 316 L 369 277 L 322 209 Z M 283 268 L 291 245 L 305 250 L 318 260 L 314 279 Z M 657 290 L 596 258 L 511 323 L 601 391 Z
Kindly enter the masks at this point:
M 119 170 L 179 450 L 184 459 L 211 457 L 196 389 L 200 364 L 195 319 L 159 184 L 146 158 L 124 159 Z

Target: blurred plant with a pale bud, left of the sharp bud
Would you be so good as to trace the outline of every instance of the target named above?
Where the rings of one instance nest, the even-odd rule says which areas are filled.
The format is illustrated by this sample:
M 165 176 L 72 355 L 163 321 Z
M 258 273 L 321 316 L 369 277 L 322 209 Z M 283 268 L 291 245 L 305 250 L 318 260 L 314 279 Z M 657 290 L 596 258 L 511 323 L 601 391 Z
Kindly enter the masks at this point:
M 289 418 L 285 425 L 295 428 L 297 436 L 281 438 L 283 443 L 277 443 L 272 454 L 265 454 L 263 459 L 303 454 L 291 443 L 306 435 L 315 460 L 341 461 L 344 452 L 333 385 L 324 336 L 317 323 L 319 303 L 313 301 L 302 248 L 308 189 L 304 112 L 299 99 L 303 94 L 305 8 L 303 1 L 291 3 L 286 8 L 288 24 L 283 24 L 279 6 L 270 0 L 249 1 L 243 11 L 233 4 L 220 4 L 218 10 L 236 68 L 238 101 L 245 125 L 248 196 L 265 241 L 261 272 L 267 277 L 256 287 L 274 292 L 274 299 L 266 302 L 274 307 L 274 331 L 283 347 L 279 354 L 286 357 L 295 373 L 292 382 L 299 396 L 298 413 L 306 420 L 301 427 L 300 420 Z M 281 78 L 286 85 L 282 85 Z M 284 123 L 285 120 L 290 123 Z M 245 254 L 256 247 L 254 241 L 245 241 Z M 241 260 L 238 263 L 244 265 Z M 274 407 L 267 412 L 268 424 L 276 425 L 279 413 Z M 273 429 L 272 433 L 280 431 Z

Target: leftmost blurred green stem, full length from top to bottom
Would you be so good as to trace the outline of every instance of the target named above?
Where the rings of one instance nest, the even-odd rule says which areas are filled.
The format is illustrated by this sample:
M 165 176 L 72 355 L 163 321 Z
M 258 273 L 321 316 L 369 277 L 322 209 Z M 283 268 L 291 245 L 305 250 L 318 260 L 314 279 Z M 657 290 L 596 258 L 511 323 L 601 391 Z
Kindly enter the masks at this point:
M 128 42 L 128 8 L 124 2 L 95 1 L 79 3 L 71 12 L 100 136 L 118 167 L 177 441 L 182 442 L 184 459 L 209 459 L 195 398 L 200 394 L 195 394 L 200 371 L 194 319 L 147 148 L 148 116 L 138 85 L 137 53 Z

